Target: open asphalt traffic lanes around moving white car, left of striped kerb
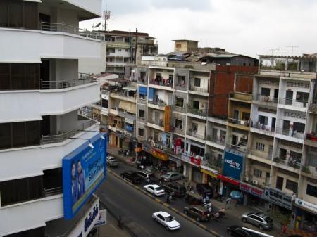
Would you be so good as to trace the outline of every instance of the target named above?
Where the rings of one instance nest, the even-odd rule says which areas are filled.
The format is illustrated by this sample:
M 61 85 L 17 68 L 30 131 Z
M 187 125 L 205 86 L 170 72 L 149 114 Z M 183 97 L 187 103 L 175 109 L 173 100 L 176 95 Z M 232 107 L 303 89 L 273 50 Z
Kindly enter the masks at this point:
M 147 196 L 142 189 L 137 190 L 113 174 L 108 173 L 106 181 L 98 189 L 98 195 L 106 207 L 117 215 L 120 214 L 125 225 L 139 237 L 211 236 L 211 233 Z M 154 222 L 151 215 L 159 210 L 172 214 L 180 222 L 181 228 L 176 231 L 167 231 L 161 224 Z

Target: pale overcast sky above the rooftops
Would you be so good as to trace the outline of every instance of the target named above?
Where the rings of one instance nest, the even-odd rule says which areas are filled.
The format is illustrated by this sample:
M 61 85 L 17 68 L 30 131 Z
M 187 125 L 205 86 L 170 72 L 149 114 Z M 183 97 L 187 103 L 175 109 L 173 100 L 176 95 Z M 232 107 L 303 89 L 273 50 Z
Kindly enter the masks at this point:
M 159 53 L 174 51 L 175 39 L 254 58 L 317 52 L 316 0 L 102 0 L 102 7 L 111 11 L 107 30 L 137 28 L 156 38 Z

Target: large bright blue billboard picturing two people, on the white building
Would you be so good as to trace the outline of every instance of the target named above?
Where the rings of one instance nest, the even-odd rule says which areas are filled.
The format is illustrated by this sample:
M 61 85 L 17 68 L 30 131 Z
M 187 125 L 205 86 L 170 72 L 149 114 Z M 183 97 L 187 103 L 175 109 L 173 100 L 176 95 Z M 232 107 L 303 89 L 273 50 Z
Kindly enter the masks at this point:
M 63 158 L 63 203 L 64 218 L 72 219 L 86 200 L 106 179 L 107 139 L 100 134 L 73 150 Z

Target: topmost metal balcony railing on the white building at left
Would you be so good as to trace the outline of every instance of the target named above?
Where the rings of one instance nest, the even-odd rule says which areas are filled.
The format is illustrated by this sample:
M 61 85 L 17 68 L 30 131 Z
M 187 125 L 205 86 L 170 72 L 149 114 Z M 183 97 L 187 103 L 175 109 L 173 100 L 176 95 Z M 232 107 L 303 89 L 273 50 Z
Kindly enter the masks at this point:
M 41 23 L 41 30 L 43 32 L 45 31 L 51 31 L 51 32 L 63 32 L 68 34 L 77 34 L 82 37 L 88 37 L 92 39 L 101 39 L 99 32 L 91 32 L 86 29 L 81 29 L 78 27 L 74 27 L 72 25 L 66 25 L 64 23 Z

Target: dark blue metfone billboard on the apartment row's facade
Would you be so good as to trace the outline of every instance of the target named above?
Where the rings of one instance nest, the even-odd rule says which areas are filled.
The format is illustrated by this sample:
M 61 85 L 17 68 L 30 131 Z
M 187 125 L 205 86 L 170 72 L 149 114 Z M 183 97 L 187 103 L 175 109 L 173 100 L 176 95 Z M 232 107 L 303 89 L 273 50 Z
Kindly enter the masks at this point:
M 242 153 L 232 153 L 225 150 L 223 176 L 240 180 L 240 175 L 243 170 L 243 158 L 244 155 Z

